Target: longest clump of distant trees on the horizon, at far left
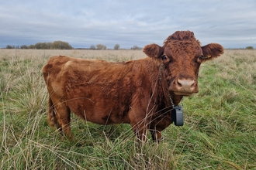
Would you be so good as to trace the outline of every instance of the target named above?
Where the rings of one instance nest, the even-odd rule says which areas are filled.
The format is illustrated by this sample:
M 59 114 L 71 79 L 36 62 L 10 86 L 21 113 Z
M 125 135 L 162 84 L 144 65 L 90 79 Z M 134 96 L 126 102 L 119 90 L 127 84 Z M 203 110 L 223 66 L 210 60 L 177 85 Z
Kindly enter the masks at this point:
M 54 42 L 37 42 L 35 45 L 11 46 L 7 45 L 6 49 L 73 49 L 68 42 L 54 41 Z

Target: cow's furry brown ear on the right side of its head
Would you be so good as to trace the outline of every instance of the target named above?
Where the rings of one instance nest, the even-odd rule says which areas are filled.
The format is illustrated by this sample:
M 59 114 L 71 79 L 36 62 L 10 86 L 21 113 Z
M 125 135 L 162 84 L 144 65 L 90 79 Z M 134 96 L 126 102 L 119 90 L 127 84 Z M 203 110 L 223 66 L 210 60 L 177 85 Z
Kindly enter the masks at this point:
M 224 48 L 220 44 L 210 43 L 206 46 L 202 46 L 202 62 L 206 62 L 211 59 L 215 59 L 224 53 Z

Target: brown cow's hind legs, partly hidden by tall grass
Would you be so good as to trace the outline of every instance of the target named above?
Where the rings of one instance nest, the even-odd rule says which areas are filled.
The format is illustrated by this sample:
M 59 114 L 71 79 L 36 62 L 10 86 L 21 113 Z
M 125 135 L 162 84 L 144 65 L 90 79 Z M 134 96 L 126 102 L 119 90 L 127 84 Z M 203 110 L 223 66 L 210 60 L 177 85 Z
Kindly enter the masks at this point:
M 49 101 L 49 111 L 47 121 L 51 127 L 56 126 L 60 132 L 64 132 L 67 135 L 67 138 L 73 138 L 71 133 L 71 110 L 67 107 L 65 102 Z

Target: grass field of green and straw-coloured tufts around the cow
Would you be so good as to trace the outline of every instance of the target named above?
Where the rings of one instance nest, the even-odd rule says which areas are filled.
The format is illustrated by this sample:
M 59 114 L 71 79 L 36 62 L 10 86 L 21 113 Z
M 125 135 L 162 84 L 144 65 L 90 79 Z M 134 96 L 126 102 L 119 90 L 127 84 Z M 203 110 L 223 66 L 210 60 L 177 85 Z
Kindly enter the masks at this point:
M 101 126 L 72 115 L 74 141 L 47 125 L 47 59 L 120 61 L 137 50 L 0 49 L 0 169 L 256 169 L 256 51 L 225 50 L 204 63 L 199 93 L 185 97 L 185 125 L 140 147 L 128 124 Z M 149 136 L 148 136 L 149 137 Z

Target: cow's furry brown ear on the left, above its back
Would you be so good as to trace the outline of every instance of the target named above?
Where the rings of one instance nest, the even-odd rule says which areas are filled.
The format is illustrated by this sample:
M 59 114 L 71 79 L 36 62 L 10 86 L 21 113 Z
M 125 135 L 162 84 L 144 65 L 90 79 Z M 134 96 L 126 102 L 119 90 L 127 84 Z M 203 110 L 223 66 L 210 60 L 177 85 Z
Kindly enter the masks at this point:
M 162 56 L 164 53 L 164 48 L 158 46 L 157 44 L 150 44 L 144 47 L 143 52 L 151 58 L 157 58 Z

